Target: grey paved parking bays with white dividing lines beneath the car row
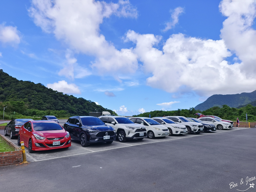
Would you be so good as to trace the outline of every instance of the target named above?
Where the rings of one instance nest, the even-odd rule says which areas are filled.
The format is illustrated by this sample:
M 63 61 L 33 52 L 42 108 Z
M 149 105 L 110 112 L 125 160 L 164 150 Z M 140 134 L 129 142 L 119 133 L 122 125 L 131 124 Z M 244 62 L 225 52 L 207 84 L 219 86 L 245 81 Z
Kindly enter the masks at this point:
M 71 141 L 71 147 L 68 149 L 52 149 L 47 151 L 36 151 L 35 153 L 29 153 L 28 148 L 25 148 L 26 150 L 26 156 L 27 160 L 29 162 L 36 162 L 36 161 L 44 161 L 49 159 L 55 159 L 55 158 L 62 158 L 67 156 L 76 156 L 86 153 L 95 153 L 99 151 L 107 151 L 117 148 L 128 148 L 132 146 L 138 146 L 138 145 L 145 145 L 145 144 L 153 144 L 156 142 L 165 142 L 170 140 L 183 140 L 190 137 L 203 137 L 205 135 L 211 135 L 211 134 L 221 134 L 224 132 L 231 132 L 231 131 L 237 131 L 241 129 L 248 129 L 248 128 L 232 128 L 228 130 L 217 130 L 215 132 L 209 132 L 209 133 L 200 133 L 200 134 L 182 134 L 182 135 L 173 135 L 173 136 L 166 136 L 166 137 L 160 137 L 155 139 L 148 139 L 144 138 L 143 140 L 128 140 L 125 143 L 121 143 L 119 141 L 114 141 L 111 144 L 106 143 L 97 143 L 97 144 L 90 144 L 88 147 L 82 147 L 79 141 L 72 140 Z M 3 134 L 4 130 L 0 130 L 0 133 Z M 10 139 L 10 136 L 6 136 L 7 139 Z M 17 145 L 17 139 L 11 140 L 15 145 Z

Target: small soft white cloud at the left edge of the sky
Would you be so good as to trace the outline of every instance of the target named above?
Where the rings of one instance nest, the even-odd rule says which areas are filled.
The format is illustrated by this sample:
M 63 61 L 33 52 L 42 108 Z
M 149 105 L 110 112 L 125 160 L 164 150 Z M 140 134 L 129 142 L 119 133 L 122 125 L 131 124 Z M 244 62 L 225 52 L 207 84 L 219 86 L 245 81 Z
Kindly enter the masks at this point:
M 16 46 L 20 43 L 20 32 L 17 27 L 5 26 L 5 23 L 0 24 L 0 42 L 2 44 L 11 44 Z

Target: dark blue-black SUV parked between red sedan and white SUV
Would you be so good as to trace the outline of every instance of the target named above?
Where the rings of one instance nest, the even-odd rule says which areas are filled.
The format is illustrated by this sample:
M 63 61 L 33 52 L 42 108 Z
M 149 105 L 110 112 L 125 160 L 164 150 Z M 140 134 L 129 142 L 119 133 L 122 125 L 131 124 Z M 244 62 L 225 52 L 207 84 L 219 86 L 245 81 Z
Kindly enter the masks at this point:
M 70 117 L 63 127 L 69 132 L 71 139 L 80 140 L 83 147 L 89 143 L 110 144 L 116 140 L 116 130 L 93 116 Z

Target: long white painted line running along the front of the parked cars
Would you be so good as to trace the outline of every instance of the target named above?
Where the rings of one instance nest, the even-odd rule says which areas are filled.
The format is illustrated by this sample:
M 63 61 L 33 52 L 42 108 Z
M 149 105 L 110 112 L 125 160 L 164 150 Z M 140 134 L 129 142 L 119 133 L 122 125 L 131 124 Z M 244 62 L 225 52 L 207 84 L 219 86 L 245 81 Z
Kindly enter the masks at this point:
M 243 129 L 249 129 L 249 128 L 243 128 Z M 241 129 L 239 128 L 239 129 L 227 130 L 227 131 L 224 130 L 224 131 L 221 131 L 221 132 L 211 133 L 211 135 L 212 135 L 212 134 L 223 133 L 223 132 L 237 131 L 237 130 L 241 130 Z M 132 146 L 137 146 L 137 145 L 151 144 L 151 143 L 164 142 L 164 141 L 170 141 L 170 140 L 185 139 L 185 138 L 198 137 L 198 136 L 204 136 L 204 135 L 210 135 L 210 134 L 198 134 L 198 135 L 193 135 L 193 136 L 189 136 L 189 137 L 181 137 L 181 138 L 173 138 L 173 139 L 168 139 L 168 140 L 153 141 L 153 142 L 150 142 L 150 143 L 140 143 L 140 144 L 136 144 L 136 145 L 123 146 L 123 147 L 116 147 L 116 148 L 110 148 L 110 149 L 102 149 L 102 150 L 99 150 L 99 151 L 91 151 L 91 152 L 86 152 L 86 153 L 79 153 L 79 154 L 74 154 L 74 155 L 60 156 L 60 157 L 54 157 L 54 158 L 49 158 L 49 159 L 42 159 L 42 160 L 37 160 L 37 161 L 46 161 L 46 160 L 51 160 L 51 159 L 63 158 L 63 157 L 70 157 L 70 156 L 76 156 L 76 155 L 83 155 L 83 154 L 87 154 L 87 153 L 95 153 L 95 152 L 107 151 L 107 150 L 118 149 L 118 148 L 132 147 Z M 78 146 L 77 146 L 77 147 L 78 147 Z

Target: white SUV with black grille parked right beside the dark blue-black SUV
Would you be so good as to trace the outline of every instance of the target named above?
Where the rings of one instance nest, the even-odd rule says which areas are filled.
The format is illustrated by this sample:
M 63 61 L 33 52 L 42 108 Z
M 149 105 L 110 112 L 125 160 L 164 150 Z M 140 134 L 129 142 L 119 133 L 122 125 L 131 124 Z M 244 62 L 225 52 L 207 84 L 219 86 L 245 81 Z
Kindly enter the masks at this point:
M 127 139 L 143 140 L 147 137 L 147 129 L 144 125 L 133 123 L 124 116 L 100 116 L 101 121 L 116 129 L 117 139 L 125 142 Z

